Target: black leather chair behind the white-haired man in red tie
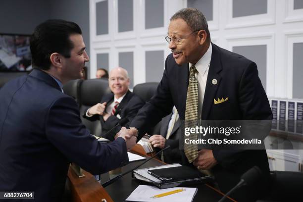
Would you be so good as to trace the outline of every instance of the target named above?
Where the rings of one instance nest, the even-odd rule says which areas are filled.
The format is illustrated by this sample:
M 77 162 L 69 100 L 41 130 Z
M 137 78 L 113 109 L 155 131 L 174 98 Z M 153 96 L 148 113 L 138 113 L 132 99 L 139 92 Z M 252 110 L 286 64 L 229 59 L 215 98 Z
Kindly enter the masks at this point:
M 100 136 L 102 127 L 100 120 L 90 121 L 82 117 L 86 109 L 101 101 L 103 95 L 110 93 L 107 79 L 84 80 L 80 86 L 80 114 L 83 124 L 92 134 Z

